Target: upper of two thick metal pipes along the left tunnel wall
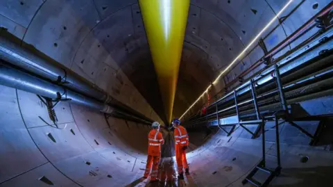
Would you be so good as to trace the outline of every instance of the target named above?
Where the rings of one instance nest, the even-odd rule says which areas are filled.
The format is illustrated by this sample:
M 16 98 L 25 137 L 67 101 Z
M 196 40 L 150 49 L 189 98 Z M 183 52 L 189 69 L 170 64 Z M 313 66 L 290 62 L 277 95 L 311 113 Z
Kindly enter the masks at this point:
M 60 67 L 31 51 L 26 51 L 26 49 L 3 37 L 0 37 L 0 58 L 44 79 L 49 79 L 53 83 L 61 84 L 99 101 L 108 103 L 112 99 L 106 92 L 85 81 L 66 67 Z

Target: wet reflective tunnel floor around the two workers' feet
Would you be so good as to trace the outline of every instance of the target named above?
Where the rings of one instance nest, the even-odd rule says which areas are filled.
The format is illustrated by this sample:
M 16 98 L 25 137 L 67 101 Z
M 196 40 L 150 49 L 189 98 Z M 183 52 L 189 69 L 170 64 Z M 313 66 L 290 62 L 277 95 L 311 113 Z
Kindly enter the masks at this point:
M 184 180 L 178 179 L 178 172 L 176 171 L 176 161 L 174 157 L 161 158 L 160 165 L 158 168 L 158 179 L 159 182 L 150 183 L 149 178 L 144 179 L 139 178 L 134 181 L 132 184 L 129 184 L 126 187 L 182 187 L 182 186 L 196 186 L 194 180 L 191 177 L 191 174 L 186 176 L 184 175 Z

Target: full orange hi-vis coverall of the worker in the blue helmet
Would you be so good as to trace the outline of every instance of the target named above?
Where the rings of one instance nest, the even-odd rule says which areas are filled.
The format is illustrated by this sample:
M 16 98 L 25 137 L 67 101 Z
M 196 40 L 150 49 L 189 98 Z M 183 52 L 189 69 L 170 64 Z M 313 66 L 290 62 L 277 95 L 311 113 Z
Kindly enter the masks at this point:
M 189 168 L 186 160 L 186 150 L 183 149 L 183 147 L 189 146 L 189 136 L 187 135 L 186 129 L 181 125 L 175 127 L 173 133 L 175 134 L 175 150 L 178 174 L 182 174 L 183 168 Z

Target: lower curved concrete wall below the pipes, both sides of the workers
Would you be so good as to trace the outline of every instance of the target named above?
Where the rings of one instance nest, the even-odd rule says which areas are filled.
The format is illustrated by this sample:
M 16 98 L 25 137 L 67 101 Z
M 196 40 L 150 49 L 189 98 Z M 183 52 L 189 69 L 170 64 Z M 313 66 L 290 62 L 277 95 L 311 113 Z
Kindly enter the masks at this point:
M 40 119 L 49 122 L 36 95 L 0 87 L 1 187 L 49 186 L 42 177 L 55 186 L 127 186 L 142 177 L 149 131 L 146 125 L 116 118 L 107 123 L 101 113 L 62 102 L 56 107 L 57 129 Z M 332 99 L 327 97 L 325 103 L 329 102 Z M 302 127 L 314 133 L 316 123 L 305 122 Z M 283 169 L 272 186 L 325 186 L 333 174 L 330 148 L 309 147 L 309 138 L 288 124 L 280 126 L 280 133 Z M 250 137 L 242 128 L 230 137 L 216 130 L 206 137 L 202 132 L 190 133 L 191 142 L 196 144 L 190 144 L 187 154 L 189 186 L 242 186 L 242 177 L 262 156 L 261 139 Z M 268 165 L 273 166 L 274 132 L 266 138 L 266 153 L 271 155 Z M 309 161 L 302 163 L 305 156 Z

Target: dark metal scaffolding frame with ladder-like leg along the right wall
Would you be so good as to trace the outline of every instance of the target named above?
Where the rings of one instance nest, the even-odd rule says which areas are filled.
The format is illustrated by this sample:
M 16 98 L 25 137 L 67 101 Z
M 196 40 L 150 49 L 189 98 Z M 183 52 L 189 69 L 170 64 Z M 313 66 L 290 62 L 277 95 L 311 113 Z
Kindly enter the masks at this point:
M 291 115 L 289 113 L 289 108 L 287 107 L 287 101 L 284 97 L 284 90 L 283 90 L 283 86 L 282 86 L 282 81 L 281 81 L 281 76 L 280 76 L 280 71 L 278 69 L 278 65 L 275 64 L 274 68 L 275 68 L 274 69 L 274 81 L 275 81 L 276 89 L 278 90 L 278 94 L 279 94 L 279 98 L 280 98 L 280 107 L 275 109 L 275 112 L 273 113 L 273 115 L 267 115 L 267 116 L 260 115 L 259 106 L 257 104 L 257 93 L 255 90 L 255 81 L 253 79 L 251 79 L 247 83 L 246 86 L 250 86 L 251 97 L 252 97 L 251 100 L 253 101 L 253 106 L 255 109 L 255 116 L 257 118 L 256 120 L 241 120 L 240 115 L 239 115 L 239 104 L 238 104 L 238 98 L 237 98 L 238 95 L 237 95 L 236 90 L 234 90 L 234 106 L 236 109 L 237 120 L 238 120 L 238 122 L 236 124 L 220 124 L 218 107 L 216 104 L 216 117 L 217 117 L 217 121 L 218 121 L 218 126 L 220 129 L 222 129 L 223 131 L 225 131 L 225 133 L 228 134 L 227 136 L 230 136 L 234 132 L 234 129 L 236 128 L 237 125 L 239 125 L 239 127 L 244 128 L 246 131 L 248 131 L 248 133 L 252 134 L 252 138 L 258 138 L 260 135 L 262 136 L 262 160 L 258 163 L 257 166 L 255 166 L 255 168 L 253 168 L 253 170 L 248 174 L 248 176 L 242 181 L 243 184 L 246 184 L 249 182 L 250 184 L 253 184 L 255 186 L 267 186 L 274 177 L 279 176 L 280 171 L 282 170 L 281 158 L 280 158 L 280 133 L 279 133 L 279 125 L 280 125 L 279 119 L 280 118 L 282 118 L 285 122 L 288 122 L 289 124 L 291 124 L 291 126 L 296 127 L 306 136 L 309 136 L 311 138 L 310 145 L 316 144 L 317 138 L 323 127 L 323 123 L 321 122 L 316 129 L 316 133 L 314 135 L 311 135 L 311 133 L 309 133 L 308 131 L 306 131 L 305 129 L 303 129 L 302 127 L 300 127 L 298 124 L 295 123 L 295 121 L 302 121 L 305 119 L 302 119 L 302 118 L 296 119 L 296 118 L 291 117 Z M 312 119 L 312 120 L 318 120 L 318 119 Z M 265 128 L 266 122 L 275 122 L 275 128 L 266 129 Z M 257 124 L 258 125 L 255 132 L 250 131 L 250 129 L 248 129 L 246 127 L 246 125 L 248 125 L 248 124 Z M 232 129 L 230 131 L 226 131 L 223 127 L 232 127 Z M 275 145 L 276 145 L 276 150 L 277 150 L 276 158 L 277 158 L 278 165 L 274 169 L 266 167 L 265 132 L 267 130 L 275 130 L 275 140 L 276 140 Z M 259 171 L 266 172 L 269 174 L 263 183 L 260 183 L 259 181 L 253 179 L 253 176 Z

